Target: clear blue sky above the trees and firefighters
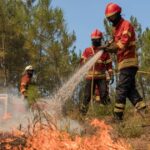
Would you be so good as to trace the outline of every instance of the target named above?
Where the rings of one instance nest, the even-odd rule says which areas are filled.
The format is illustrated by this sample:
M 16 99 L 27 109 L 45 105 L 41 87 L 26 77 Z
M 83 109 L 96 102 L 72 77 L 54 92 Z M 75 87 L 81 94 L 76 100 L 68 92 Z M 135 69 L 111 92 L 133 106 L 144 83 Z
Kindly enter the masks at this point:
M 150 27 L 150 0 L 52 0 L 53 7 L 60 7 L 69 32 L 75 31 L 76 51 L 83 51 L 91 45 L 90 34 L 99 29 L 104 32 L 105 7 L 114 2 L 122 7 L 122 16 L 129 20 L 137 18 L 144 30 Z

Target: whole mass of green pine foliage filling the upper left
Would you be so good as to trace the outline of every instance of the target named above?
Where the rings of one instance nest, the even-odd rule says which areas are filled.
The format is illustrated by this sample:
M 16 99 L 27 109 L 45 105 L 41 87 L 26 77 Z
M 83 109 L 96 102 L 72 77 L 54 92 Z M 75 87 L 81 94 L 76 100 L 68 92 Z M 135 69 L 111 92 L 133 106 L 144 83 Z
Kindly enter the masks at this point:
M 77 66 L 74 31 L 51 0 L 0 1 L 0 71 L 17 86 L 26 65 L 36 70 L 37 86 L 50 94 Z

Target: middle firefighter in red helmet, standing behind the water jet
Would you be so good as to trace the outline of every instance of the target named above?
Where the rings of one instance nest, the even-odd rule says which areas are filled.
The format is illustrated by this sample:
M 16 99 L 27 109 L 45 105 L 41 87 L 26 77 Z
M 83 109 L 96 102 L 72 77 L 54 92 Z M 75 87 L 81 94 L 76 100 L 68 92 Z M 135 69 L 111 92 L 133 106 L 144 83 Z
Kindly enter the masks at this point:
M 91 34 L 92 46 L 86 48 L 81 56 L 81 64 L 85 63 L 90 59 L 96 52 L 100 50 L 103 34 L 98 29 L 94 30 Z M 96 86 L 100 93 L 101 103 L 106 105 L 109 103 L 107 99 L 107 85 L 106 85 L 106 74 L 108 71 L 112 76 L 112 60 L 108 52 L 104 52 L 99 59 L 96 61 L 94 66 L 88 71 L 86 76 L 85 93 L 83 103 L 80 112 L 86 115 L 88 111 L 89 102 L 95 91 Z M 92 84 L 93 83 L 93 84 Z

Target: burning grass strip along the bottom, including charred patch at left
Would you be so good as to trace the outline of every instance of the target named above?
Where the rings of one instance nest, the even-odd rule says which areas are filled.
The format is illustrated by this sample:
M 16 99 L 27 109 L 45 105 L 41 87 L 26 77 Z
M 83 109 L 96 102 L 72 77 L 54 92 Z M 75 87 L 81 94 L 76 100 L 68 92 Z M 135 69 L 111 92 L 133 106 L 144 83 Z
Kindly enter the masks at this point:
M 58 130 L 53 124 L 33 124 L 28 132 L 18 130 L 0 134 L 2 150 L 129 150 L 130 146 L 122 139 L 112 138 L 112 128 L 104 121 L 90 122 L 91 135 L 72 137 Z

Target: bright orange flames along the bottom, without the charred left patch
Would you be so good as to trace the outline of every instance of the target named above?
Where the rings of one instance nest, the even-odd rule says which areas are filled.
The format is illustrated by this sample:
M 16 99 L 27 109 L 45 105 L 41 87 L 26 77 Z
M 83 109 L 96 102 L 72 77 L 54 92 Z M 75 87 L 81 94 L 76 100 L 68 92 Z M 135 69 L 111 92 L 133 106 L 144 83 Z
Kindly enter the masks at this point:
M 111 126 L 104 121 L 94 119 L 90 123 L 97 130 L 94 135 L 74 139 L 66 133 L 54 128 L 37 127 L 35 134 L 27 140 L 25 150 L 129 150 L 130 146 L 122 139 L 113 140 L 110 136 Z

